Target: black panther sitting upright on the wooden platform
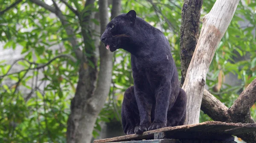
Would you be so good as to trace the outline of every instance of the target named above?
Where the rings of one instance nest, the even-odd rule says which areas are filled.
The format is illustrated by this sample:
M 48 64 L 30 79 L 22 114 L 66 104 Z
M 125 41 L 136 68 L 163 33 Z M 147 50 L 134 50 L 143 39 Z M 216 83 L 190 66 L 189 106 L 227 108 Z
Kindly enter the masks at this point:
M 111 52 L 123 48 L 131 53 L 134 86 L 125 91 L 122 103 L 124 132 L 141 134 L 183 125 L 186 93 L 179 87 L 177 68 L 164 34 L 131 10 L 111 20 L 101 40 Z

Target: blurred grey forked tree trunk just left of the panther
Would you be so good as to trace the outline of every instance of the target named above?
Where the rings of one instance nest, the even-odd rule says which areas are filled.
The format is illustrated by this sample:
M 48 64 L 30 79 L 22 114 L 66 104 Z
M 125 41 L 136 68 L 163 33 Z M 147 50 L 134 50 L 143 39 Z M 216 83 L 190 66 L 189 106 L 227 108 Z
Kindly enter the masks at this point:
M 113 3 L 114 2 L 116 2 L 116 0 L 113 0 Z M 93 2 L 87 0 L 86 4 L 87 3 L 90 4 Z M 120 6 L 121 5 L 113 5 L 113 9 L 116 10 L 116 12 L 112 12 L 113 15 L 119 13 L 119 10 L 121 9 L 119 8 Z M 102 34 L 105 31 L 105 26 L 109 22 L 108 0 L 99 1 L 99 16 Z M 91 43 L 91 34 L 86 33 L 86 31 L 90 29 L 89 25 L 86 25 L 86 22 L 89 20 L 90 17 L 87 17 L 86 19 L 83 19 L 83 22 L 81 23 L 84 45 L 88 47 Z M 100 70 L 97 75 L 94 51 L 95 49 L 85 47 L 85 52 L 91 55 L 90 57 L 87 57 L 86 62 L 83 62 L 80 67 L 77 92 L 71 102 L 67 143 L 90 142 L 96 118 L 102 109 L 110 90 L 113 53 L 110 53 L 101 43 L 99 48 Z M 87 64 L 87 61 L 90 61 L 94 65 L 91 66 Z M 99 80 L 96 84 L 97 76 Z

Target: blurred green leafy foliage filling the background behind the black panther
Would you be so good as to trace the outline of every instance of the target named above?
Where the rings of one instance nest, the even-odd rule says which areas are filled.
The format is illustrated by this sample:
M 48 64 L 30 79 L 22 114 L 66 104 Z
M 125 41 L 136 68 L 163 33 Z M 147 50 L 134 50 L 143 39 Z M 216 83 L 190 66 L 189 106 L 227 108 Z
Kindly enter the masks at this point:
M 0 0 L 0 11 L 14 2 Z M 204 1 L 201 17 L 210 11 L 214 2 Z M 49 0 L 47 3 L 52 5 Z M 70 0 L 68 3 L 80 12 L 84 6 L 82 0 Z M 98 8 L 97 2 L 95 6 Z M 163 31 L 171 44 L 179 76 L 182 6 L 180 0 L 122 0 L 122 13 L 134 9 L 138 16 Z M 61 10 L 75 29 L 79 47 L 83 47 L 79 17 L 65 5 Z M 239 3 L 209 67 L 209 91 L 227 107 L 256 78 L 255 10 L 253 0 Z M 241 27 L 245 20 L 248 25 Z M 92 22 L 99 25 L 96 19 Z M 0 15 L 3 49 L 12 49 L 24 56 L 16 61 L 0 62 L 0 142 L 66 142 L 70 99 L 76 91 L 79 66 L 67 56 L 51 61 L 59 55 L 75 55 L 64 28 L 54 14 L 31 1 L 21 2 Z M 123 93 L 133 85 L 130 54 L 125 50 L 117 50 L 114 54 L 111 90 L 97 118 L 94 137 L 99 135 L 100 122 L 120 121 Z M 227 82 L 231 80 L 231 74 L 239 79 L 237 84 Z M 251 110 L 255 119 L 255 106 Z M 211 119 L 202 112 L 200 122 L 208 120 Z

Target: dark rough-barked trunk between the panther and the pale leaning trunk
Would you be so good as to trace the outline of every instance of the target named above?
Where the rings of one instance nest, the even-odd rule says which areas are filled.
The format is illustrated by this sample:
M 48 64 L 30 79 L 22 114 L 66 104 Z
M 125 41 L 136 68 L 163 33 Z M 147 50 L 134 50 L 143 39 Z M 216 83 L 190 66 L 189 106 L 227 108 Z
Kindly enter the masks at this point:
M 200 28 L 200 12 L 203 0 L 184 0 L 180 26 L 180 68 L 182 87 L 186 71 L 198 42 Z

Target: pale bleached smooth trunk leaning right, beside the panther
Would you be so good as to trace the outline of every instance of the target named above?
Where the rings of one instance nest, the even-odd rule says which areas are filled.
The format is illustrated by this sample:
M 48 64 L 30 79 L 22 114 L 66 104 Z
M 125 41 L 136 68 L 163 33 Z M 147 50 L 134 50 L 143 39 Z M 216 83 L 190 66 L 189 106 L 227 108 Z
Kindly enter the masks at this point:
M 199 123 L 207 70 L 218 43 L 233 18 L 238 2 L 239 0 L 216 0 L 212 10 L 204 16 L 198 44 L 182 87 L 188 95 L 185 124 Z

